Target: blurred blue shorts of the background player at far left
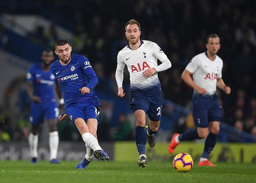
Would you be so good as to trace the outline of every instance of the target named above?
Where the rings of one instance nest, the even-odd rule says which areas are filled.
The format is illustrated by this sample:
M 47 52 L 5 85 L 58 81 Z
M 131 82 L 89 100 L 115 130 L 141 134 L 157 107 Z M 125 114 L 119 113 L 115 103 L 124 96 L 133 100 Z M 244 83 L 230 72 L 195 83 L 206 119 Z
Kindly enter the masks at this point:
M 59 108 L 54 101 L 31 103 L 29 121 L 31 124 L 36 125 L 44 122 L 44 116 L 47 120 L 57 119 L 59 117 Z

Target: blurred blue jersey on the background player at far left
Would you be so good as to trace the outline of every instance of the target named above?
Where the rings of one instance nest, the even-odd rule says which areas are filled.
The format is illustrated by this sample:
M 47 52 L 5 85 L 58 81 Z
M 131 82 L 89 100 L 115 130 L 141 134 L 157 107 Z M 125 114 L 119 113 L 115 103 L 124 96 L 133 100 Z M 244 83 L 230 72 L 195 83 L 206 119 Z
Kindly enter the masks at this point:
M 33 64 L 28 70 L 27 81 L 33 83 L 33 95 L 39 96 L 41 102 L 55 101 L 54 87 L 56 78 L 53 73 L 44 71 L 42 64 Z

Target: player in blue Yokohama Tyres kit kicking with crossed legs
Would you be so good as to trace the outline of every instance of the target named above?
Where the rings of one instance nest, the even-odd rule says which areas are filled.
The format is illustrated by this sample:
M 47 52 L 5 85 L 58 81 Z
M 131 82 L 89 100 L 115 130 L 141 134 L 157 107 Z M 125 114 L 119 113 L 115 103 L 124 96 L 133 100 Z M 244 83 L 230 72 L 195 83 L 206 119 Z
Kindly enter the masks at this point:
M 59 116 L 63 121 L 67 116 L 77 127 L 87 148 L 86 155 L 76 165 L 77 169 L 85 169 L 95 158 L 109 160 L 97 140 L 97 125 L 100 122 L 100 102 L 93 89 L 98 78 L 87 58 L 71 54 L 72 47 L 65 39 L 56 42 L 55 53 L 59 56 L 51 65 L 64 98 L 66 112 Z

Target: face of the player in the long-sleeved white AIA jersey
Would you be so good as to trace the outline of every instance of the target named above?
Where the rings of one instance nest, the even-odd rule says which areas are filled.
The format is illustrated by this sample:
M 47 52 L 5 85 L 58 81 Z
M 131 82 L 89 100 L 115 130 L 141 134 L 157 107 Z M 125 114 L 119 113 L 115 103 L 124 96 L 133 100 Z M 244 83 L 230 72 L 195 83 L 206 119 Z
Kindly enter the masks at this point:
M 137 24 L 127 25 L 125 36 L 131 44 L 136 44 L 140 40 L 140 30 Z

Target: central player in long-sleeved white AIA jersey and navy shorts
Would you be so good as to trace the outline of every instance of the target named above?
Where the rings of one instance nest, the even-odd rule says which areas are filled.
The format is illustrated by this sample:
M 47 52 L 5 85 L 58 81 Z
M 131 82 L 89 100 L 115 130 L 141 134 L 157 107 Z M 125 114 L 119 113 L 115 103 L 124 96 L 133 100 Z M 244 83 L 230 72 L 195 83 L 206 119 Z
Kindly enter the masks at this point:
M 124 67 L 127 65 L 131 83 L 130 105 L 136 118 L 135 142 L 140 155 L 137 164 L 140 167 L 147 167 L 147 138 L 150 147 L 154 147 L 154 133 L 159 130 L 162 111 L 162 90 L 157 72 L 170 68 L 172 64 L 156 43 L 140 40 L 140 24 L 136 20 L 131 19 L 126 23 L 125 36 L 129 44 L 119 51 L 117 56 L 118 96 L 125 96 L 122 83 Z M 157 59 L 162 64 L 157 65 Z M 146 113 L 149 126 L 145 127 Z

